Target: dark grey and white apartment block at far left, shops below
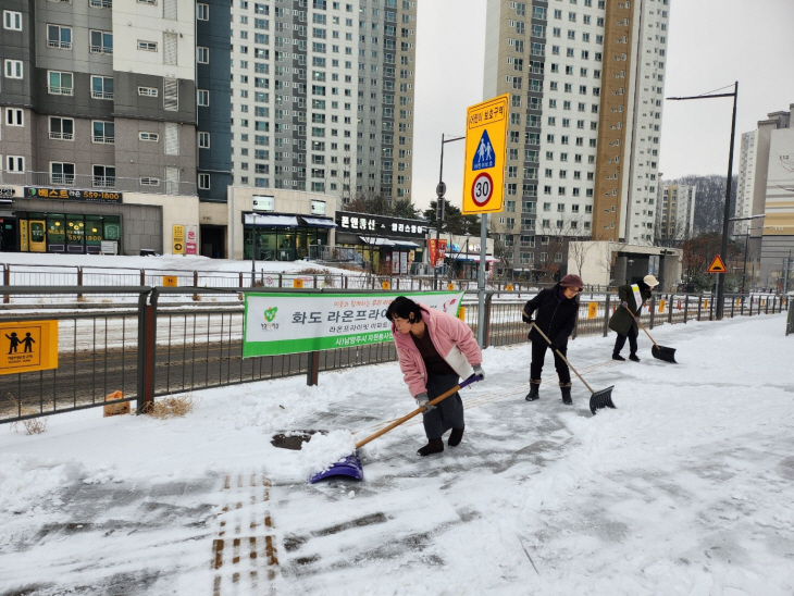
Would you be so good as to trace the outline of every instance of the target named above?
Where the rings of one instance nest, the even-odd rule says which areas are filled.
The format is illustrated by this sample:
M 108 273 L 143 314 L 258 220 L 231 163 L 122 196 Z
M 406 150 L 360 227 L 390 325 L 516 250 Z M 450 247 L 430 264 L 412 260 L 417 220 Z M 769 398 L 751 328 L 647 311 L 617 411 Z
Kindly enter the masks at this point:
M 195 2 L 0 7 L 3 248 L 162 251 L 198 216 Z

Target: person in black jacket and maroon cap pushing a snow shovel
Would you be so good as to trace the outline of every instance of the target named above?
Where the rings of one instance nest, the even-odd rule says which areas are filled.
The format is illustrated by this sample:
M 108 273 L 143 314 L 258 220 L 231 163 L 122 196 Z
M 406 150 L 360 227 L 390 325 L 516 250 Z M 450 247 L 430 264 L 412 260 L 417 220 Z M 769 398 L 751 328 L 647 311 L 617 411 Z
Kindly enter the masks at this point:
M 550 347 L 554 353 L 554 365 L 559 376 L 562 402 L 567 405 L 573 403 L 571 401 L 571 372 L 568 370 L 566 361 L 555 350 L 559 350 L 563 356 L 568 352 L 568 337 L 576 324 L 576 311 L 579 310 L 576 295 L 582 291 L 583 285 L 579 275 L 566 275 L 553 288 L 542 289 L 537 296 L 524 305 L 521 313 L 524 322 L 530 324 L 534 314 L 535 324 L 551 340 Z M 532 363 L 530 364 L 530 393 L 526 394 L 526 401 L 534 401 L 541 397 L 541 371 L 549 344 L 535 327 L 530 331 L 529 338 L 532 342 Z

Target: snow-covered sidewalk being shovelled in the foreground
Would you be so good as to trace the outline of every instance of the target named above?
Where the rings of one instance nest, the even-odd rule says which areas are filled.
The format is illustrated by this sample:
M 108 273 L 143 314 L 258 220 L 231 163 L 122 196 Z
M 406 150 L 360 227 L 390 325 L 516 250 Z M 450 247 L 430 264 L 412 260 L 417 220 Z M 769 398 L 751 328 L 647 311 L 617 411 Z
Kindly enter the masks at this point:
M 783 314 L 653 331 L 680 364 L 570 359 L 616 410 L 565 407 L 550 357 L 485 351 L 467 431 L 429 458 L 419 418 L 362 449 L 364 481 L 307 483 L 274 435 L 414 408 L 396 363 L 197 393 L 185 418 L 0 426 L 0 595 L 794 593 L 794 338 Z M 344 433 L 338 433 L 344 435 Z

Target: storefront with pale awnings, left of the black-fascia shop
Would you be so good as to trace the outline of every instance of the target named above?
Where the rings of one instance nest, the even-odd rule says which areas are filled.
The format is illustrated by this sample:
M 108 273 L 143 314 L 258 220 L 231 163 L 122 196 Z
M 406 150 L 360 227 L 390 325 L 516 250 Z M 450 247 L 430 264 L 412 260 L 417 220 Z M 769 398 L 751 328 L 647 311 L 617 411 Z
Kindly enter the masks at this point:
M 297 261 L 308 258 L 312 246 L 327 246 L 330 218 L 275 213 L 243 213 L 244 259 Z

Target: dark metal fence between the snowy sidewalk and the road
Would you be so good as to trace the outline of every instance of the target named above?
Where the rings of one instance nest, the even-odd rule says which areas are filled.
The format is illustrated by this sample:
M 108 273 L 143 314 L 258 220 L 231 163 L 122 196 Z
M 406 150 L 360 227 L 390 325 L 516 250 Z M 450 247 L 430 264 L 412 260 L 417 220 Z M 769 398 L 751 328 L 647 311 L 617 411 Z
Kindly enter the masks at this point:
M 0 423 L 124 401 L 135 401 L 140 411 L 160 396 L 301 374 L 314 384 L 322 371 L 396 359 L 390 342 L 244 359 L 246 290 L 250 288 L 0 287 L 0 294 L 11 297 L 11 303 L 0 308 L 0 323 L 55 320 L 59 327 L 57 369 L 0 374 Z M 82 308 L 73 309 L 69 305 L 77 291 L 83 296 Z M 322 289 L 308 291 L 323 293 Z M 521 320 L 521 309 L 530 297 L 519 291 L 487 293 L 486 346 L 526 340 L 528 327 Z M 103 301 L 110 301 L 113 310 L 102 312 L 92 308 Z M 609 315 L 619 303 L 617 297 L 585 293 L 581 302 L 574 337 L 606 336 Z M 28 314 L 17 303 L 33 303 L 37 312 Z M 776 313 L 787 308 L 785 296 L 727 296 L 724 316 Z M 464 295 L 462 318 L 476 336 L 476 293 Z M 714 318 L 715 307 L 709 296 L 661 295 L 652 299 L 641 321 L 653 328 L 663 323 Z M 791 322 L 789 309 L 789 330 Z

